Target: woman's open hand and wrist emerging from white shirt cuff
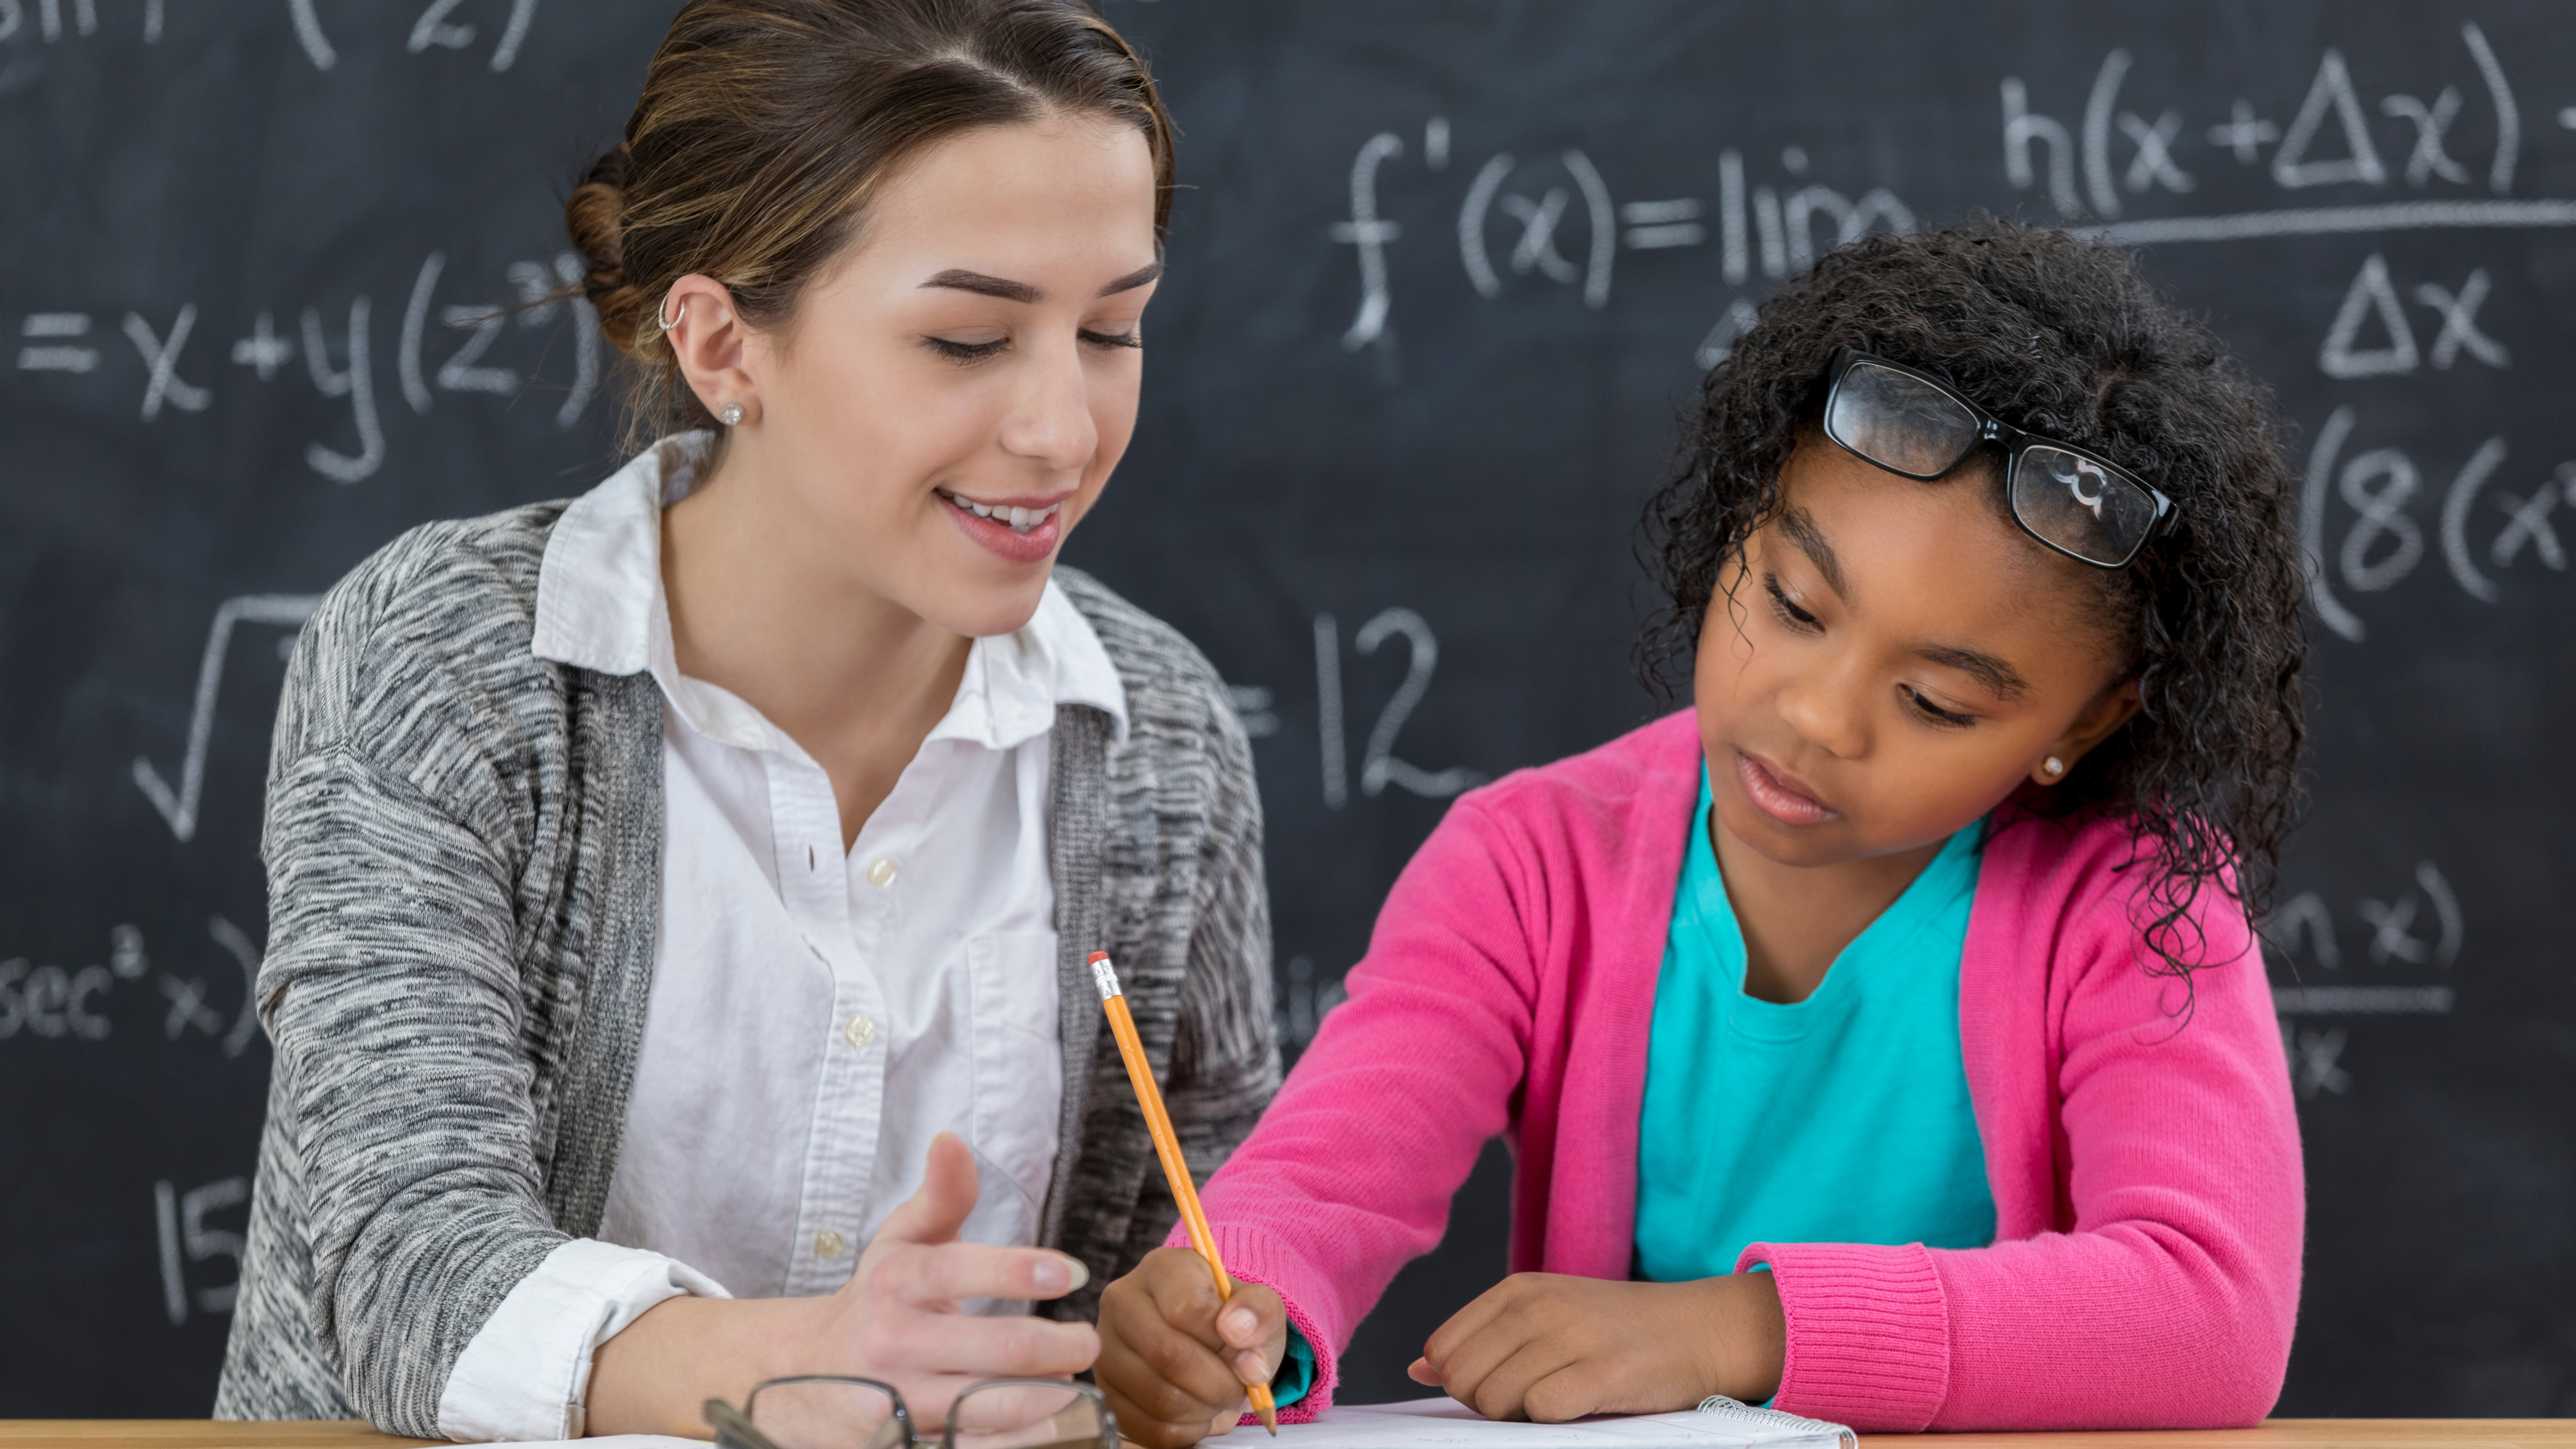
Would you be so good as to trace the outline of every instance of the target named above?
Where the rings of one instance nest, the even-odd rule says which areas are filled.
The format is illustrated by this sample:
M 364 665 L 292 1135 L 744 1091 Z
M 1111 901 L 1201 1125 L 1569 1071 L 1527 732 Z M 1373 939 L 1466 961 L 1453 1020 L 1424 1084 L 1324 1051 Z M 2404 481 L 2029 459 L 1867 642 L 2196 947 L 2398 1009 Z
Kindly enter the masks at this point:
M 979 1379 L 1061 1379 L 1092 1366 L 1100 1336 L 1087 1323 L 958 1312 L 958 1299 L 1054 1299 L 1090 1281 L 1064 1253 L 961 1243 L 974 1199 L 974 1152 L 940 1132 L 922 1191 L 886 1217 L 832 1294 L 675 1297 L 600 1343 L 587 1431 L 703 1436 L 703 1400 L 739 1405 L 752 1385 L 788 1374 L 884 1379 L 914 1423 L 935 1426 Z

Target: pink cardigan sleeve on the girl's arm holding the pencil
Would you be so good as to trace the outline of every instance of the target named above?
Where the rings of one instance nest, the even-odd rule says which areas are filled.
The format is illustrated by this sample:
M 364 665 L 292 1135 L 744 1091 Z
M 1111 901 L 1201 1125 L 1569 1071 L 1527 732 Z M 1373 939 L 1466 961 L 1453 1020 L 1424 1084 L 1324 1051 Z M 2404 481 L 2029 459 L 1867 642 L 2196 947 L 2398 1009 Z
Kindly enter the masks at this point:
M 1450 1196 L 1507 1127 L 1535 995 L 1530 910 L 1499 825 L 1461 799 L 1396 877 L 1350 1000 L 1206 1189 L 1226 1271 L 1278 1292 L 1316 1354 L 1283 1423 L 1332 1408 L 1352 1330 L 1440 1243 Z

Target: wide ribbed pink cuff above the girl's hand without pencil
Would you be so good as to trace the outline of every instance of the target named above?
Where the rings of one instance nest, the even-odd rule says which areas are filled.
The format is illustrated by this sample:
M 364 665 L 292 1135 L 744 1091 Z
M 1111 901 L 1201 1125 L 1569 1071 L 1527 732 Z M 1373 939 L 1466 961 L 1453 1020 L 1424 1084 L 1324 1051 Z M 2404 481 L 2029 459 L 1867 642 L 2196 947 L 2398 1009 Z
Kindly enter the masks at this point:
M 1950 1392 L 1950 1302 L 1922 1243 L 1752 1243 L 1788 1318 L 1772 1403 L 1862 1434 L 1919 1434 Z

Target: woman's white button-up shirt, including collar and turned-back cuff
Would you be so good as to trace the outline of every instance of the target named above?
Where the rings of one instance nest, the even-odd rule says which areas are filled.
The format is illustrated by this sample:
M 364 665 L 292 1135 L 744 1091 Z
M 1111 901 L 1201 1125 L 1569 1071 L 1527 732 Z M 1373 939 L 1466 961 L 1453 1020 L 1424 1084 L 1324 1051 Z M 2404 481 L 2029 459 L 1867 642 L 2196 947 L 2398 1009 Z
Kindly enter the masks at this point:
M 837 1289 L 938 1132 L 981 1176 L 963 1238 L 1038 1235 L 1064 1098 L 1048 730 L 1092 704 L 1123 732 L 1118 670 L 1048 585 L 1028 627 L 974 642 L 842 851 L 822 766 L 675 665 L 662 508 L 690 456 L 662 443 L 574 500 L 538 570 L 538 657 L 662 686 L 662 931 L 600 1240 L 556 1248 L 466 1343 L 451 1439 L 582 1434 L 592 1351 L 680 1292 Z

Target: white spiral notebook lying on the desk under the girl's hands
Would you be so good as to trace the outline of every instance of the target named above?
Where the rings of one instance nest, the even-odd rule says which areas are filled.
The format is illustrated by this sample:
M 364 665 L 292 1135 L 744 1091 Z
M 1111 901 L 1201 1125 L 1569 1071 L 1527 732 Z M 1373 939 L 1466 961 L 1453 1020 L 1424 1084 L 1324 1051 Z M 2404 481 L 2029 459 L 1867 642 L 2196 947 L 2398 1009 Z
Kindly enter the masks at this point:
M 1453 1397 L 1334 1405 L 1314 1423 L 1283 1423 L 1280 1449 L 1857 1449 L 1860 1439 L 1821 1418 L 1708 1397 L 1682 1413 L 1584 1418 L 1577 1423 L 1497 1423 Z M 1252 1444 L 1265 1444 L 1252 1439 Z

